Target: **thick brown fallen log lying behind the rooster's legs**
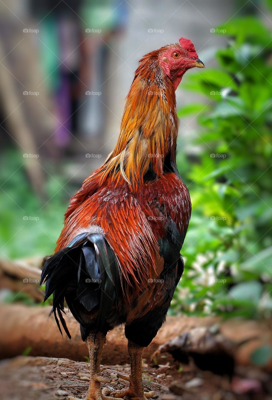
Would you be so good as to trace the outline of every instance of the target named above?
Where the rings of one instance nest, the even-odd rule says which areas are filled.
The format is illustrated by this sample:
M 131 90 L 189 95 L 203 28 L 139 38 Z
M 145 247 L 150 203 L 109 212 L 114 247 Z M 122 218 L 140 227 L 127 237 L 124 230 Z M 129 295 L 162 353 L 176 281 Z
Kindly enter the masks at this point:
M 0 306 L 0 319 L 4 321 L 0 327 L 0 358 L 20 355 L 26 348 L 31 348 L 32 356 L 85 360 L 88 351 L 86 344 L 81 341 L 79 324 L 68 312 L 65 318 L 72 339 L 62 337 L 54 318 L 48 318 L 50 310 L 49 306 L 28 307 L 20 304 Z M 220 321 L 217 317 L 169 316 L 153 342 L 145 349 L 144 357 L 149 360 L 155 352 L 157 360 L 153 362 L 161 363 L 161 357 L 165 357 L 167 352 L 168 359 L 172 359 L 170 353 L 179 360 L 179 356 L 175 354 L 177 347 L 179 347 L 178 352 L 181 349 L 187 356 L 200 354 L 210 357 L 223 352 L 232 358 L 234 366 L 253 365 L 272 372 L 272 356 L 269 354 L 272 348 L 271 328 L 271 320 L 254 321 L 236 318 Z M 158 348 L 159 351 L 156 352 Z M 255 359 L 252 357 L 256 352 L 258 356 L 259 350 L 261 356 L 264 352 L 267 353 L 262 357 L 263 362 L 260 362 L 262 360 L 256 362 L 256 357 Z M 107 335 L 107 346 L 103 350 L 102 362 L 124 364 L 128 361 L 124 329 L 115 328 Z

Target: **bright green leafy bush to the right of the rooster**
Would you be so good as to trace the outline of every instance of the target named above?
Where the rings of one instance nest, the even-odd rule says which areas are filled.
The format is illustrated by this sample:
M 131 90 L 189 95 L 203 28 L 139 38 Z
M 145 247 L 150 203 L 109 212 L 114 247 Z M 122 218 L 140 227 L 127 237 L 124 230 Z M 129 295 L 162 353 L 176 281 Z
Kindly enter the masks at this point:
M 256 317 L 272 310 L 272 37 L 258 19 L 232 19 L 218 68 L 187 79 L 206 96 L 197 114 L 197 163 L 178 158 L 192 199 L 185 272 L 172 309 Z M 181 124 L 182 124 L 181 120 Z

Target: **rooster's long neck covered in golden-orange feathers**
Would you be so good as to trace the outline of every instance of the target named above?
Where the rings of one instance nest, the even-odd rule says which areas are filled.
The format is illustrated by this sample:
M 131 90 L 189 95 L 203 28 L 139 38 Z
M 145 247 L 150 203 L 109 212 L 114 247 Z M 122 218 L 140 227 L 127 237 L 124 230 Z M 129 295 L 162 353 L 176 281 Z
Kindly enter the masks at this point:
M 100 170 L 107 178 L 125 180 L 131 190 L 167 172 L 165 159 L 176 162 L 179 120 L 175 88 L 154 60 L 143 60 L 129 90 L 115 149 Z

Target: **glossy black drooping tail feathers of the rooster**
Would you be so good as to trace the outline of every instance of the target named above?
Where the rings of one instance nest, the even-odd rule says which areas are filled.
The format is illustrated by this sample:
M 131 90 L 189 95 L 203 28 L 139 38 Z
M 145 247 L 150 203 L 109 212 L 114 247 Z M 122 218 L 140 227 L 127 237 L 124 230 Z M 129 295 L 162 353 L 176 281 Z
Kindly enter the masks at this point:
M 82 312 L 97 308 L 95 329 L 103 330 L 107 317 L 121 290 L 119 266 L 103 233 L 83 232 L 75 236 L 68 246 L 45 261 L 41 284 L 46 282 L 44 300 L 53 293 L 53 308 L 58 328 L 71 338 L 63 317 L 64 300 L 84 328 Z M 58 314 L 58 315 L 57 315 Z M 60 320 L 59 320 L 59 319 Z

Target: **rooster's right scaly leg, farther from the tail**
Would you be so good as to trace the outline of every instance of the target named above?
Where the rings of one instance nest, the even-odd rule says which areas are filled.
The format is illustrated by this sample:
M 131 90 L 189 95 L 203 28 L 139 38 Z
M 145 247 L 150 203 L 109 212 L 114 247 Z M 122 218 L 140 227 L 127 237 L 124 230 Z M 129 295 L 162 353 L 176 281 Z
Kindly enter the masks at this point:
M 155 392 L 143 391 L 142 380 L 142 356 L 143 347 L 128 340 L 127 348 L 130 356 L 130 375 L 129 375 L 129 388 L 124 390 L 117 390 L 114 393 L 115 397 L 128 397 L 132 400 L 146 400 L 154 396 Z

